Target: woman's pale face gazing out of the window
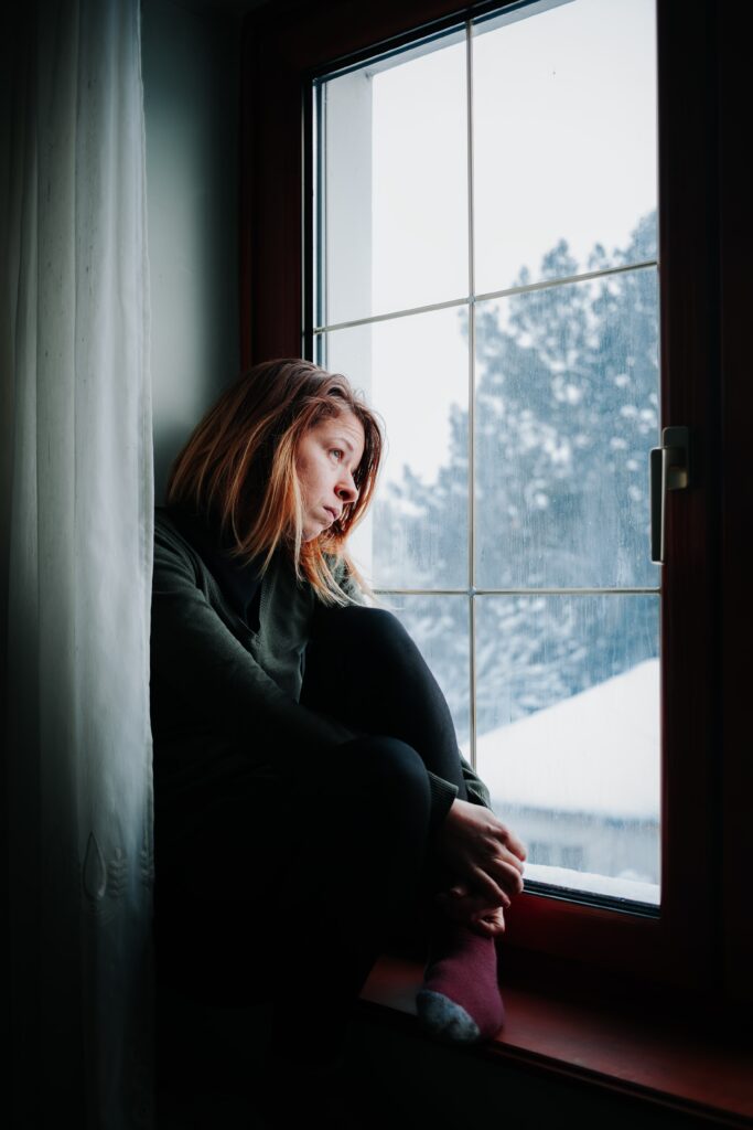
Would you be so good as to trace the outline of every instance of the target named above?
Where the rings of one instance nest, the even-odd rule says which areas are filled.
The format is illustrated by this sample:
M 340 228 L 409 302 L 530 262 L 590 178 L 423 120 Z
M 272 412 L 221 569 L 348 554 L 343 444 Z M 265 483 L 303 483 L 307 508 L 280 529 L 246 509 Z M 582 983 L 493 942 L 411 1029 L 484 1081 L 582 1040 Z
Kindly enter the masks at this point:
M 353 475 L 364 455 L 364 426 L 349 408 L 321 420 L 298 442 L 296 471 L 304 503 L 304 541 L 332 525 L 356 502 Z

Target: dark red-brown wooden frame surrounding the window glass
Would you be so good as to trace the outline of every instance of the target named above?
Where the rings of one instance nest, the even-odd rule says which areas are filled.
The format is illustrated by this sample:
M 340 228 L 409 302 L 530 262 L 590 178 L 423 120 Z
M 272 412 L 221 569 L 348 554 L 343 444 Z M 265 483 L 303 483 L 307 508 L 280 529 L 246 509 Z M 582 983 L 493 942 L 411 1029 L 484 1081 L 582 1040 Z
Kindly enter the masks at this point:
M 244 366 L 303 355 L 313 77 L 492 7 L 501 6 L 322 0 L 278 2 L 246 17 Z M 552 970 L 561 981 L 564 963 L 571 981 L 587 970 L 590 981 L 649 980 L 671 993 L 692 986 L 695 1002 L 716 1011 L 753 999 L 753 771 L 744 745 L 730 740 L 735 723 L 745 732 L 741 657 L 751 603 L 743 565 L 750 530 L 736 520 L 745 513 L 743 271 L 752 261 L 735 113 L 744 36 L 724 0 L 657 0 L 656 8 L 662 424 L 686 425 L 695 457 L 692 490 L 668 499 L 663 566 L 662 914 L 651 920 L 524 894 L 509 914 L 506 948 L 508 963 L 536 976 Z

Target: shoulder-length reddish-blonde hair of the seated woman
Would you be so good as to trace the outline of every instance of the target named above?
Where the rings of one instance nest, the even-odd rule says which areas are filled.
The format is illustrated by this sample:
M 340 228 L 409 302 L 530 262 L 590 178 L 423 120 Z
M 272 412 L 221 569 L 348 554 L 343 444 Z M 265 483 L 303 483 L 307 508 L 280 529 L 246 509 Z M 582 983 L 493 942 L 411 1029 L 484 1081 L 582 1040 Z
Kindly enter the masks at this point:
M 298 442 L 322 419 L 347 409 L 360 420 L 366 441 L 353 473 L 358 498 L 327 530 L 304 541 Z M 166 501 L 219 531 L 231 557 L 246 563 L 263 555 L 262 575 L 284 546 L 298 580 L 309 581 L 325 603 L 343 605 L 348 598 L 333 575 L 338 562 L 365 592 L 371 591 L 345 542 L 371 503 L 383 451 L 380 418 L 345 376 L 298 358 L 262 362 L 196 425 L 173 463 Z

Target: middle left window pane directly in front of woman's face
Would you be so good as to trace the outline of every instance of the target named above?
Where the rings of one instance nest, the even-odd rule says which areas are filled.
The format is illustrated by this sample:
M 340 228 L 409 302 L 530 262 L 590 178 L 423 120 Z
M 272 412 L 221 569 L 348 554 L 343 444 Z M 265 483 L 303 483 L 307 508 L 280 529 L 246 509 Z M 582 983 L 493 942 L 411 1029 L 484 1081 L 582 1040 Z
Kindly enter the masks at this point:
M 466 589 L 469 355 L 457 310 L 332 331 L 326 366 L 386 426 L 369 544 L 356 534 L 356 557 L 382 588 Z

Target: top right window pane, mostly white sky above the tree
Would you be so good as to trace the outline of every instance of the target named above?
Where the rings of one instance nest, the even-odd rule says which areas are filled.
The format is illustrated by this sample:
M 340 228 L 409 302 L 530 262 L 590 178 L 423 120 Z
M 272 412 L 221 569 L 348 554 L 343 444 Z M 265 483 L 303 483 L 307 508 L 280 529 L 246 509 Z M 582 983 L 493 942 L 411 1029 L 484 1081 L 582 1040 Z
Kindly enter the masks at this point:
M 656 257 L 655 0 L 537 8 L 474 29 L 476 294 Z

